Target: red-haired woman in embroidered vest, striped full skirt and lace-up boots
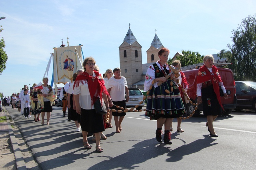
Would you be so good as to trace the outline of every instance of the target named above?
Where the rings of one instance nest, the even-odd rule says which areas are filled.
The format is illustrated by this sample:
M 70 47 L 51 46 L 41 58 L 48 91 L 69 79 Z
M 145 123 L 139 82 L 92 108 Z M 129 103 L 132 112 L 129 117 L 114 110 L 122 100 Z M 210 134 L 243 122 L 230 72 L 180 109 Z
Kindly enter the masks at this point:
M 145 115 L 149 116 L 150 119 L 157 120 L 156 140 L 162 142 L 162 126 L 165 125 L 163 141 L 171 145 L 172 118 L 182 116 L 185 113 L 185 108 L 177 84 L 171 78 L 165 78 L 171 71 L 166 63 L 168 55 L 169 50 L 167 48 L 162 48 L 158 52 L 159 60 L 147 69 L 144 91 L 150 90 L 147 96 Z M 174 73 L 171 74 L 171 77 L 174 77 Z M 160 86 L 157 85 L 159 81 L 163 82 Z M 169 90 L 170 94 L 165 90 Z

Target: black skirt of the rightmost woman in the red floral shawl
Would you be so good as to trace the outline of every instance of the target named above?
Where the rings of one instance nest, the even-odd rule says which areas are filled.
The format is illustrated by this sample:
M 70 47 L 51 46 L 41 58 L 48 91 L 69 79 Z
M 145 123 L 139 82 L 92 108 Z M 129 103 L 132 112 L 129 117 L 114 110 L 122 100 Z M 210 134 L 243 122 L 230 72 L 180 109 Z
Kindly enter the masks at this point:
M 217 116 L 222 115 L 221 105 L 218 102 L 217 96 L 213 90 L 213 85 L 202 88 L 203 115 Z

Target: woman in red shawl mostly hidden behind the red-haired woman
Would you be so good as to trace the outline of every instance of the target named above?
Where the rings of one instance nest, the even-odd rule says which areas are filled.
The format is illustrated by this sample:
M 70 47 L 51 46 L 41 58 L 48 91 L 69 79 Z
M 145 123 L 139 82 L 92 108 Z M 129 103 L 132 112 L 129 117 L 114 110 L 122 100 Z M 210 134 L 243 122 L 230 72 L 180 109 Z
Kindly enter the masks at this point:
M 181 68 L 181 61 L 180 61 L 180 60 L 174 60 L 174 61 L 172 62 L 172 66 L 174 66 L 174 67 L 180 67 L 180 68 Z M 184 88 L 184 90 L 187 91 L 187 89 L 188 89 L 188 83 L 187 83 L 187 79 L 186 79 L 186 77 L 185 77 L 185 74 L 184 74 L 182 71 L 180 71 L 179 73 L 180 73 L 180 76 L 178 77 L 179 82 L 180 82 L 180 84 L 182 85 L 182 88 Z M 184 104 L 184 107 L 185 107 L 185 110 L 186 110 L 186 104 L 187 104 L 189 101 L 187 100 L 186 96 L 184 97 L 183 91 L 181 90 L 181 87 L 180 87 L 180 86 L 179 86 L 179 90 L 180 90 L 181 98 L 182 98 L 182 100 L 183 100 L 183 104 Z M 173 119 L 172 119 L 172 120 L 173 120 Z M 181 121 L 182 121 L 182 119 L 177 118 L 177 132 L 180 132 L 180 133 L 184 132 L 184 130 L 181 129 Z M 171 132 L 173 131 L 173 129 L 172 129 L 172 124 L 171 124 L 171 130 L 170 130 L 170 131 L 171 131 Z

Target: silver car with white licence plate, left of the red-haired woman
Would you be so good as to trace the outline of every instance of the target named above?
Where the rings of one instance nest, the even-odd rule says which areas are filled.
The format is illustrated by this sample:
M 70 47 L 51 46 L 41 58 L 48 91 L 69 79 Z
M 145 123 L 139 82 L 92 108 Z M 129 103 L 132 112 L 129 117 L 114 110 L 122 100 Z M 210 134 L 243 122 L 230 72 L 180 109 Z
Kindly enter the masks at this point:
M 136 105 L 139 105 L 137 107 L 137 110 L 142 109 L 142 106 L 145 105 L 145 101 L 143 101 L 143 94 L 140 91 L 139 88 L 128 88 L 129 89 L 129 101 L 126 102 L 126 108 L 128 107 L 135 107 Z M 142 104 L 140 102 L 143 101 Z

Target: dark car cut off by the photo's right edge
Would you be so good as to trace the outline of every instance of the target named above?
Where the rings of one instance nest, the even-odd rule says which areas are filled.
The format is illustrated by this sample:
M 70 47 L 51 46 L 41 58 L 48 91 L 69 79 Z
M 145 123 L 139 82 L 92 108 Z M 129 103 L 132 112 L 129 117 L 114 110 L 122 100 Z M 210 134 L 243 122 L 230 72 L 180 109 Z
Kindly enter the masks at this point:
M 236 111 L 242 109 L 254 109 L 256 111 L 256 82 L 235 81 L 237 107 Z

